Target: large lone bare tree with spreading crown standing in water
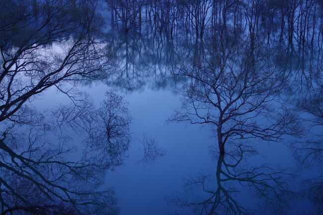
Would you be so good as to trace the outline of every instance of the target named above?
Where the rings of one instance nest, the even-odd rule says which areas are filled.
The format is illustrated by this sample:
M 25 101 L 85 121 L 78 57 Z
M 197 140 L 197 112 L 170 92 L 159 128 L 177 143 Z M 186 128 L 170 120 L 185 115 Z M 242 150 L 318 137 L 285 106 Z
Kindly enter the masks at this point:
M 295 114 L 279 99 L 285 78 L 270 56 L 259 44 L 255 49 L 231 38 L 221 44 L 213 39 L 206 57 L 186 60 L 179 68 L 189 81 L 169 120 L 209 125 L 222 154 L 230 139 L 279 141 L 297 134 Z

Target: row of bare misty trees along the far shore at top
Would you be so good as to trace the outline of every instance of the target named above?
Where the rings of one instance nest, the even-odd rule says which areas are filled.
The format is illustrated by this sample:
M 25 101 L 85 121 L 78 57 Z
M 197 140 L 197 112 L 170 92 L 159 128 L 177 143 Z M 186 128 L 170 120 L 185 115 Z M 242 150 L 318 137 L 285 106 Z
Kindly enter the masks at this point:
M 322 48 L 320 0 L 106 0 L 111 22 L 124 30 L 154 27 L 172 35 L 185 30 L 203 38 L 204 32 L 248 34 L 284 43 L 290 51 Z

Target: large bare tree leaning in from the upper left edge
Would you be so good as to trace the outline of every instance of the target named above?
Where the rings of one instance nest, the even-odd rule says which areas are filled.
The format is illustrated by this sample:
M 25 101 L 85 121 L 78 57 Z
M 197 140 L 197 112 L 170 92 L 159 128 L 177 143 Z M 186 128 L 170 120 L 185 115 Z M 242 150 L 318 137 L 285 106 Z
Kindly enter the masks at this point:
M 95 1 L 1 5 L 0 122 L 22 120 L 17 111 L 49 87 L 63 91 L 63 83 L 106 76 L 111 55 L 100 39 Z

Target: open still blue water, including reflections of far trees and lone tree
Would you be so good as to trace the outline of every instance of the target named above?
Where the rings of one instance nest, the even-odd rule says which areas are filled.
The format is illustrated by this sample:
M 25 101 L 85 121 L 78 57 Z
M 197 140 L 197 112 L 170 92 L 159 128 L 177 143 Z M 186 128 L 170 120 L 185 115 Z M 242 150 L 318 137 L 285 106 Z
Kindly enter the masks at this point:
M 207 127 L 167 121 L 180 105 L 180 78 L 170 74 L 172 62 L 183 53 L 198 52 L 196 46 L 131 34 L 119 39 L 112 41 L 120 60 L 117 77 L 80 88 L 96 104 L 111 89 L 129 103 L 128 157 L 105 179 L 105 186 L 115 190 L 121 215 L 320 213 L 309 201 L 311 184 L 304 180 L 320 178 L 322 169 L 296 161 L 288 147 L 295 139 L 237 141 L 232 144 L 244 146 L 229 145 L 228 154 L 220 156 Z M 149 163 L 140 162 L 145 136 L 165 152 Z

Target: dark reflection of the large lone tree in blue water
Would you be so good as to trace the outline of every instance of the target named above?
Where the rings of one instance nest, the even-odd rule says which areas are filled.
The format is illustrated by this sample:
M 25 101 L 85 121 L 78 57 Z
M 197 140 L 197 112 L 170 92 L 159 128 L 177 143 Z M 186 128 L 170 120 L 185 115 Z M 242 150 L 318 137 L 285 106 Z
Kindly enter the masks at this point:
M 214 173 L 186 179 L 185 193 L 168 197 L 168 202 L 187 207 L 195 215 L 286 214 L 297 196 L 291 189 L 293 175 L 266 164 L 248 164 L 246 160 L 254 154 L 259 156 L 242 144 L 236 151 L 218 154 Z M 245 206 L 248 200 L 253 202 L 251 208 Z M 261 211 L 256 210 L 257 203 Z

